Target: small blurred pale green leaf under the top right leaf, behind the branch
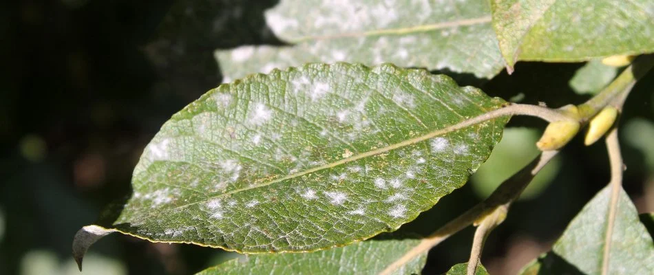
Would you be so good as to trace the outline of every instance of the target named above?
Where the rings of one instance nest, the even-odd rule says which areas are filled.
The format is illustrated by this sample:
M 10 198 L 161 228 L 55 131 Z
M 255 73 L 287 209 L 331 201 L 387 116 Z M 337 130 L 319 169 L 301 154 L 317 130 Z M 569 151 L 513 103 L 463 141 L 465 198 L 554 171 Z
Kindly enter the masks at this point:
M 597 94 L 618 75 L 618 68 L 602 64 L 593 59 L 575 72 L 570 79 L 570 87 L 577 94 Z

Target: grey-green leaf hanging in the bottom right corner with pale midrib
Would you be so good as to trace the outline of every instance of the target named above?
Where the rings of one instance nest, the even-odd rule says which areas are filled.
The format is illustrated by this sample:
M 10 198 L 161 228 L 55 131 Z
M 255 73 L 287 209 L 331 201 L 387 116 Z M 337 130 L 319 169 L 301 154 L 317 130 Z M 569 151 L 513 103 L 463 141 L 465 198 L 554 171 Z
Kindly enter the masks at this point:
M 568 225 L 552 251 L 527 265 L 522 274 L 653 274 L 652 237 L 622 188 L 604 259 L 610 201 L 611 186 L 606 186 Z M 602 270 L 605 261 L 607 269 Z

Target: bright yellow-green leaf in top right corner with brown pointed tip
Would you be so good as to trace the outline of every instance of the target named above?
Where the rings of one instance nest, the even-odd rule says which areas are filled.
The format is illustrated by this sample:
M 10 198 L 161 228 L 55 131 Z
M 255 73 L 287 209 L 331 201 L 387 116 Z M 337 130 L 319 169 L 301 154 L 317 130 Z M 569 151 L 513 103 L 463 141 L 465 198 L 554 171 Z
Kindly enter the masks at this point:
M 509 71 L 518 60 L 587 61 L 654 52 L 654 1 L 493 0 Z

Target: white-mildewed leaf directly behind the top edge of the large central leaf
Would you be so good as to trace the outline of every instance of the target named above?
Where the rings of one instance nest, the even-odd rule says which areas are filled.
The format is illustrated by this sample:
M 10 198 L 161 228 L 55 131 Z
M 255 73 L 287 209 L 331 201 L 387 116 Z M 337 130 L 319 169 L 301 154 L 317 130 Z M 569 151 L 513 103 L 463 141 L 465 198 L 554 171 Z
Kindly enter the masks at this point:
M 483 78 L 504 67 L 484 0 L 282 0 L 266 12 L 266 21 L 276 36 L 295 45 L 218 50 L 227 79 L 309 62 L 388 62 Z

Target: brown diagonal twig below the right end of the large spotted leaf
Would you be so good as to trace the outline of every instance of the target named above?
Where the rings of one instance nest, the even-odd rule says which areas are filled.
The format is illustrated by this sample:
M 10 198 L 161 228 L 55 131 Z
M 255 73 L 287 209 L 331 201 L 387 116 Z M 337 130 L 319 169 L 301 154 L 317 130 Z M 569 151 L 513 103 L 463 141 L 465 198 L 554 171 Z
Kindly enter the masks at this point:
M 534 159 L 531 163 L 518 171 L 518 173 L 505 180 L 487 199 L 481 203 L 477 203 L 477 205 L 470 208 L 470 210 L 467 210 L 456 219 L 443 225 L 430 236 L 422 239 L 418 245 L 416 245 L 412 250 L 409 250 L 400 259 L 397 259 L 397 261 L 388 265 L 386 270 L 383 270 L 380 274 L 392 274 L 405 263 L 412 261 L 416 256 L 428 252 L 431 248 L 442 241 L 445 241 L 449 236 L 452 236 L 452 234 L 463 230 L 463 228 L 466 228 L 468 225 L 471 225 L 479 217 L 486 216 L 494 211 L 498 206 L 503 206 L 505 203 L 514 201 L 514 199 L 520 196 L 520 193 L 523 192 L 536 173 L 538 173 L 545 164 L 556 156 L 556 154 L 558 154 L 558 151 L 542 152 L 540 157 Z

